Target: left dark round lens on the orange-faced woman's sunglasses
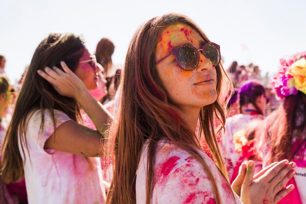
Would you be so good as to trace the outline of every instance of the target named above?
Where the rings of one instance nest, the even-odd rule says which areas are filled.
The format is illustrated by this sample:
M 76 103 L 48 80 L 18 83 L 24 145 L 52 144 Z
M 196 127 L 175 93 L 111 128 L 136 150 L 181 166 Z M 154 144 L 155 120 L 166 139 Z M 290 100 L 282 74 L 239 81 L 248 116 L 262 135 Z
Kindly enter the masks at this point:
M 197 67 L 197 50 L 190 46 L 182 46 L 177 50 L 176 59 L 181 68 L 192 70 Z

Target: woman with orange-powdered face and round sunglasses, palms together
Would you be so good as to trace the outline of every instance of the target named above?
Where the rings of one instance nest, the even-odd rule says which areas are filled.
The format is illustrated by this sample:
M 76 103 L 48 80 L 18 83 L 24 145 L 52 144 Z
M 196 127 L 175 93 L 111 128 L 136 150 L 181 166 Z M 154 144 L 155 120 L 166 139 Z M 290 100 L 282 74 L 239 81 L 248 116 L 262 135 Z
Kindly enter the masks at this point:
M 108 204 L 240 203 L 214 131 L 215 116 L 224 124 L 222 91 L 228 88 L 219 61 L 219 45 L 185 16 L 156 17 L 136 31 L 109 132 L 114 172 Z M 277 185 L 290 178 L 288 161 L 255 178 L 253 164 L 241 168 L 233 185 L 245 204 L 274 204 L 292 190 Z

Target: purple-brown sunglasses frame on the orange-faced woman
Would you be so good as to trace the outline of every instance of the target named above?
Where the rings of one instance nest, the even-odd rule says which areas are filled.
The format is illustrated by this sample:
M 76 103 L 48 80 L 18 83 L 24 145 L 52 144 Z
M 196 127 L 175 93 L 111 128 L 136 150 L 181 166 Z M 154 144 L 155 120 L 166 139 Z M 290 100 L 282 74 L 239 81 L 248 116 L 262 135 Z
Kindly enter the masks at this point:
M 204 53 L 203 50 L 205 50 L 205 47 L 206 47 L 207 45 L 209 45 L 209 44 L 216 45 L 217 48 L 218 48 L 218 51 L 219 51 L 219 61 L 218 61 L 218 64 L 217 64 L 217 65 L 213 65 L 214 67 L 217 67 L 217 66 L 220 64 L 220 61 L 221 61 L 220 45 L 218 45 L 218 44 L 216 44 L 216 43 L 213 43 L 213 42 L 208 42 L 208 43 L 206 43 L 205 45 L 203 45 L 202 49 L 197 49 L 196 47 L 194 47 L 194 46 L 192 46 L 192 45 L 188 45 L 188 44 L 186 44 L 186 45 L 179 45 L 179 46 L 175 47 L 173 50 L 171 50 L 168 54 L 166 54 L 166 56 L 164 56 L 164 57 L 162 57 L 160 60 L 158 60 L 158 61 L 156 62 L 156 64 L 158 64 L 159 62 L 161 62 L 162 60 L 166 59 L 167 57 L 169 57 L 170 55 L 173 54 L 173 55 L 175 56 L 175 60 L 176 60 L 177 65 L 178 65 L 181 69 L 183 69 L 183 70 L 185 70 L 185 71 L 192 71 L 192 70 L 194 70 L 195 68 L 197 68 L 197 65 L 198 65 L 198 63 L 199 63 L 199 61 L 200 61 L 200 57 L 199 57 L 198 51 L 202 51 L 202 54 L 204 55 L 204 57 L 205 57 L 206 59 L 208 59 L 207 56 L 206 56 L 206 54 Z M 194 50 L 196 50 L 196 53 L 197 53 L 197 65 L 195 66 L 195 68 L 192 68 L 192 69 L 185 69 L 185 68 L 182 68 L 182 66 L 179 64 L 179 62 L 178 62 L 176 56 L 177 56 L 177 52 L 178 52 L 179 48 L 181 48 L 181 47 L 192 47 Z M 209 60 L 209 61 L 210 61 L 210 60 Z M 211 63 L 213 64 L 213 62 L 211 62 Z

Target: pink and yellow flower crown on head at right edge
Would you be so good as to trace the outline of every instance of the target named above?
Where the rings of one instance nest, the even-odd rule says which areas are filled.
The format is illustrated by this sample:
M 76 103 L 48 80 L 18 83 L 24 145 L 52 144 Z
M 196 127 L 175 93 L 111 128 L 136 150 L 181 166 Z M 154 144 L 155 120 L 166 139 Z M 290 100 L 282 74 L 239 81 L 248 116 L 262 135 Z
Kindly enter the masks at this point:
M 296 95 L 298 91 L 306 94 L 306 59 L 302 58 L 292 63 L 290 67 L 281 60 L 282 67 L 271 79 L 272 93 L 277 94 L 278 99 L 289 95 Z

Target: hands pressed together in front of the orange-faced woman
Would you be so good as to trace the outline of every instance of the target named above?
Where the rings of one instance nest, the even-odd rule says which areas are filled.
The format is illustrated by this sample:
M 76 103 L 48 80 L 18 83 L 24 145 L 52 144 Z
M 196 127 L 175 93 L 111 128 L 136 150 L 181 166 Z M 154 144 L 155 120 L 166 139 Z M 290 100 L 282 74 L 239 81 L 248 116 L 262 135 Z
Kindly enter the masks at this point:
M 243 204 L 276 204 L 294 189 L 284 185 L 295 175 L 294 162 L 274 162 L 254 176 L 255 165 L 242 164 L 240 173 L 232 184 L 233 190 Z

